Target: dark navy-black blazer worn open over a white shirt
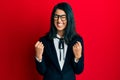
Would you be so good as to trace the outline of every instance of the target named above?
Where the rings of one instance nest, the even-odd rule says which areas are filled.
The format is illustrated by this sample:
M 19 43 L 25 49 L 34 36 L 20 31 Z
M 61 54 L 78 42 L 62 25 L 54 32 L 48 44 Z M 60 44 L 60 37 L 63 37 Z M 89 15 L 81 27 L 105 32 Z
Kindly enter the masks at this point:
M 84 68 L 84 47 L 83 39 L 80 36 L 74 37 L 68 44 L 68 49 L 66 53 L 66 59 L 63 69 L 60 69 L 56 50 L 54 47 L 53 40 L 48 39 L 47 36 L 40 38 L 40 41 L 44 44 L 44 53 L 42 62 L 36 61 L 37 71 L 43 75 L 44 80 L 76 80 L 75 74 L 79 74 Z M 72 46 L 80 41 L 82 44 L 82 57 L 79 59 L 78 63 L 74 61 L 74 54 L 72 51 Z

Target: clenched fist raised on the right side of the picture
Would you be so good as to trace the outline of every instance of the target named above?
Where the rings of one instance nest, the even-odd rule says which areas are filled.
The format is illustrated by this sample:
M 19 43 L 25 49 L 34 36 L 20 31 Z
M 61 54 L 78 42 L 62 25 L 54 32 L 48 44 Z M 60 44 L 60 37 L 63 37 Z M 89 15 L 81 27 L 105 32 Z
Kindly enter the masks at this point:
M 76 59 L 81 58 L 82 56 L 82 45 L 79 41 L 77 41 L 74 45 L 73 45 L 73 53 Z

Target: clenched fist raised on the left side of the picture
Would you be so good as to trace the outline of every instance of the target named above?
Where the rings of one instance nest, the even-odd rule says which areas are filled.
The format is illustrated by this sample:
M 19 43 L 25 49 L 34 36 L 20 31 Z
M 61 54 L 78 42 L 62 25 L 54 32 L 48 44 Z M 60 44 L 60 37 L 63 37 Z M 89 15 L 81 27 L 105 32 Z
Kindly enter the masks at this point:
M 36 51 L 36 57 L 41 60 L 42 59 L 42 55 L 43 55 L 43 51 L 44 51 L 44 45 L 42 42 L 37 41 L 35 44 L 35 51 Z

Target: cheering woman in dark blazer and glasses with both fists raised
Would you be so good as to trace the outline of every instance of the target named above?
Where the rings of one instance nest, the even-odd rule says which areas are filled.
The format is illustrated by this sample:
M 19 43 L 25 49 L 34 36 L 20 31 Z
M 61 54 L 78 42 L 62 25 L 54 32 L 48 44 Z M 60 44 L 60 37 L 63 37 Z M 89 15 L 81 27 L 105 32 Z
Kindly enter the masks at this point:
M 57 4 L 48 34 L 35 44 L 36 68 L 44 80 L 76 80 L 84 68 L 83 40 L 75 31 L 69 4 Z

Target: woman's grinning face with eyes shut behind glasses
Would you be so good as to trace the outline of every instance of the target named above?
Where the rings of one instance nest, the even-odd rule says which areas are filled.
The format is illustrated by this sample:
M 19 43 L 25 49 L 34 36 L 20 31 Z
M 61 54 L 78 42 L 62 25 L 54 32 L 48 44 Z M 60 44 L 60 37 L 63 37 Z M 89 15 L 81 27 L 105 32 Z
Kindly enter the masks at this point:
M 63 10 L 57 9 L 55 11 L 54 25 L 58 32 L 59 31 L 64 32 L 64 29 L 66 28 L 67 25 L 67 18 L 66 18 L 66 13 Z

